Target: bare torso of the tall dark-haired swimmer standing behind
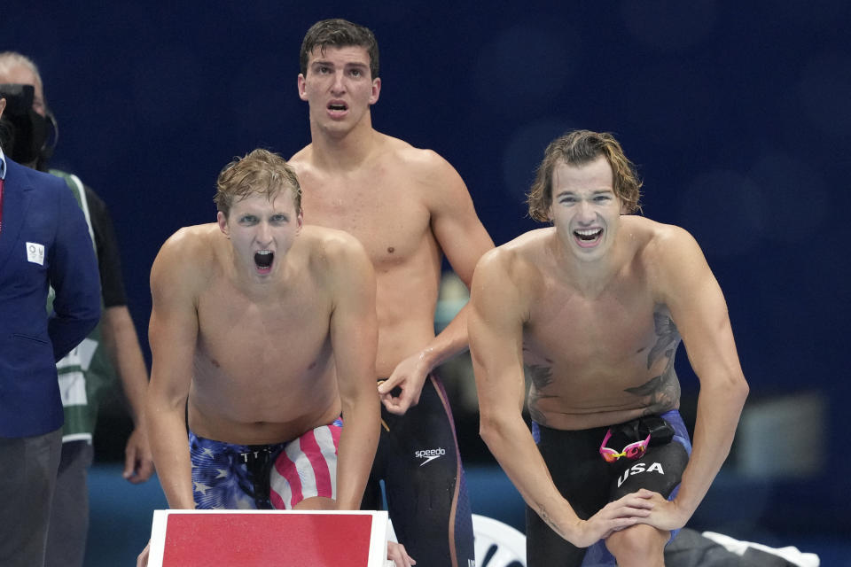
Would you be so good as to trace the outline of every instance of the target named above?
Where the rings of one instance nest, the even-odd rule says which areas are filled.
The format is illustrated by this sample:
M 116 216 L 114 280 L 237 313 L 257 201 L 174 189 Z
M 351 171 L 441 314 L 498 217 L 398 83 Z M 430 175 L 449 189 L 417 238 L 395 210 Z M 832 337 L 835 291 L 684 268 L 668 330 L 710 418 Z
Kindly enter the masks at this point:
M 345 175 L 313 167 L 311 146 L 291 164 L 303 190 L 305 223 L 345 230 L 370 256 L 379 318 L 376 374 L 389 377 L 434 337 L 441 250 L 431 227 L 426 151 L 382 139 L 375 159 Z

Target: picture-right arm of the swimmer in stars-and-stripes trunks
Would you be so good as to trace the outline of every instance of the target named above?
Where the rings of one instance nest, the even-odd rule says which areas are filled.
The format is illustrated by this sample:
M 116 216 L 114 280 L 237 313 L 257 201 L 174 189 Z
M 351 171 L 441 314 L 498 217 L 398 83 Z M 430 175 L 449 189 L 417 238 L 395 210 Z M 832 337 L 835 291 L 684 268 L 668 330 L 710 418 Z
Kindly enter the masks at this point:
M 343 415 L 337 454 L 337 509 L 356 510 L 360 509 L 379 444 L 375 274 L 363 246 L 354 238 L 329 256 L 335 296 L 330 332 Z

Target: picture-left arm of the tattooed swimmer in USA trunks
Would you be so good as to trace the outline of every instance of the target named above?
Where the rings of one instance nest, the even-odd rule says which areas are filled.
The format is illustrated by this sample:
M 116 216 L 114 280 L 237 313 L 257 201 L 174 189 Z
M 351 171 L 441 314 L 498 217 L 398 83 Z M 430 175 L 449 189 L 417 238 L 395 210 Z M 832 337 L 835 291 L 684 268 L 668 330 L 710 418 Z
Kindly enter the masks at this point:
M 470 353 L 479 393 L 480 435 L 523 499 L 562 538 L 579 523 L 558 493 L 523 421 L 523 324 L 526 299 L 497 249 L 479 262 L 470 298 Z

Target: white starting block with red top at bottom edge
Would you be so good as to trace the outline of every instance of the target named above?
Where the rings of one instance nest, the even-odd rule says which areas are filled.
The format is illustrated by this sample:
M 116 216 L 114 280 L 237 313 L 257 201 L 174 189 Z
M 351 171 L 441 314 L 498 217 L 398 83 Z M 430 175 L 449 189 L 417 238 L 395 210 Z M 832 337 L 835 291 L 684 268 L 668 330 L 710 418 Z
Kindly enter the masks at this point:
M 387 513 L 154 510 L 150 549 L 148 567 L 386 567 Z

